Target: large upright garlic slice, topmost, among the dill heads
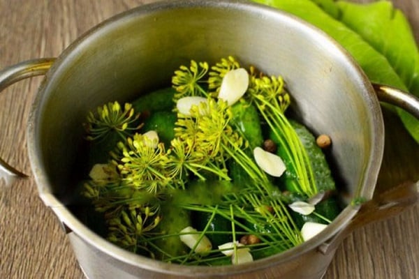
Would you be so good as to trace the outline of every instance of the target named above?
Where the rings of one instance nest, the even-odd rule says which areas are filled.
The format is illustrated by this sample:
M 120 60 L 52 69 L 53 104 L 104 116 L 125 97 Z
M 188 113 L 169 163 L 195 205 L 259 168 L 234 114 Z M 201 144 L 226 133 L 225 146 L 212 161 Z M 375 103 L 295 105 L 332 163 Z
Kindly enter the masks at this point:
M 249 87 L 249 74 L 244 68 L 230 70 L 224 75 L 221 82 L 218 98 L 225 100 L 228 105 L 237 102 Z

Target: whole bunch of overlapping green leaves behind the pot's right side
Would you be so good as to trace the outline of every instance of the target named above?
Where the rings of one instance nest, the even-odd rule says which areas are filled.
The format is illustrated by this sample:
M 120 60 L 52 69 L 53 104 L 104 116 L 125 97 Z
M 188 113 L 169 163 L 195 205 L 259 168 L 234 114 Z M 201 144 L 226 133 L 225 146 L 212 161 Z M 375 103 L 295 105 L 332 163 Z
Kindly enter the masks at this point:
M 296 15 L 328 33 L 353 56 L 372 82 L 410 90 L 419 96 L 416 43 L 409 23 L 400 11 L 392 8 L 391 3 L 362 6 L 331 0 L 256 2 Z M 419 143 L 419 121 L 407 112 L 397 111 L 406 129 Z

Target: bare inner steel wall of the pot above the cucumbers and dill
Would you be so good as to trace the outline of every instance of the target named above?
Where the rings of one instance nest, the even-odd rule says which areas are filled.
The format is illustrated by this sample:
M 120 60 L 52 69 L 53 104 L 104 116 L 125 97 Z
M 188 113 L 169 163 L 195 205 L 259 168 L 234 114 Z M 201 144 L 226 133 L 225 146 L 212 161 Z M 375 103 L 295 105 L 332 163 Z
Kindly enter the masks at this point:
M 372 197 L 383 121 L 365 75 L 320 31 L 277 10 L 236 1 L 142 6 L 68 47 L 45 77 L 29 126 L 41 196 L 52 194 L 58 204 L 75 202 L 87 112 L 169 86 L 174 70 L 191 59 L 214 63 L 228 55 L 282 75 L 295 116 L 315 134 L 332 138 L 327 155 L 344 200 Z

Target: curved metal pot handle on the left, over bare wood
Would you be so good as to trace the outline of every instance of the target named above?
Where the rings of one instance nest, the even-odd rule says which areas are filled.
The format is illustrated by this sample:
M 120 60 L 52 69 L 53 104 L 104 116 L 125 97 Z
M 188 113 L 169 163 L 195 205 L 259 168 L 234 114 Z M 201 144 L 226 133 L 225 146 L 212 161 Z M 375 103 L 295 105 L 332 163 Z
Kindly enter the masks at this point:
M 45 75 L 54 61 L 54 58 L 32 59 L 1 70 L 0 92 L 20 80 L 37 75 Z M 18 177 L 27 177 L 27 175 L 11 167 L 6 161 L 0 158 L 0 180 L 4 179 L 6 185 L 10 185 Z

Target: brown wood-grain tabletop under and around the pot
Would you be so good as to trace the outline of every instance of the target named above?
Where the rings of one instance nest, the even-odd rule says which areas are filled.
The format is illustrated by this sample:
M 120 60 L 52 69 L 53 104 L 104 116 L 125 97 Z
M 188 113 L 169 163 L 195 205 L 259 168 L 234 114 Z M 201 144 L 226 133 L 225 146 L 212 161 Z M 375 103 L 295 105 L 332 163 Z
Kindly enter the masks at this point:
M 0 0 L 0 68 L 58 56 L 84 31 L 146 2 L 152 1 Z M 419 1 L 393 2 L 407 15 L 419 41 Z M 64 232 L 37 195 L 27 158 L 27 118 L 41 80 L 24 80 L 0 94 L 0 156 L 29 174 L 7 189 L 0 181 L 0 278 L 83 278 Z M 390 114 L 386 127 L 391 148 L 385 153 L 378 189 L 419 179 L 419 147 L 406 140 Z M 419 206 L 414 206 L 353 232 L 339 246 L 325 278 L 419 278 L 418 220 Z

